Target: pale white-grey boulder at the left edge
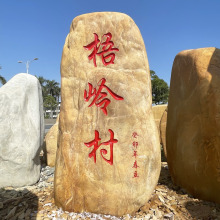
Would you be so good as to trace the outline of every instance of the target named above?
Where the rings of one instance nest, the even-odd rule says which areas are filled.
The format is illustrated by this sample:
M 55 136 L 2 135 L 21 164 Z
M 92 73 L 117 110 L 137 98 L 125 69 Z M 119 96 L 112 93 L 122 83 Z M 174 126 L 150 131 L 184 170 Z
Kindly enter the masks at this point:
M 41 86 L 17 74 L 0 88 L 0 187 L 34 184 L 44 136 Z

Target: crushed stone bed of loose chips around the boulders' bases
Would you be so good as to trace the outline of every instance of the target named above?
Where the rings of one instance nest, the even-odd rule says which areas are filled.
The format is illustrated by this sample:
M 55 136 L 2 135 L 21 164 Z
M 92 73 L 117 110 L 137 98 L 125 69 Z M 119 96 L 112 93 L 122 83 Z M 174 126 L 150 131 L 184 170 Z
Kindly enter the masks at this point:
M 195 199 L 172 184 L 166 162 L 151 199 L 134 216 L 115 217 L 95 213 L 65 212 L 54 204 L 54 168 L 43 166 L 38 183 L 20 188 L 0 189 L 0 219 L 70 220 L 70 219 L 220 219 L 220 206 Z

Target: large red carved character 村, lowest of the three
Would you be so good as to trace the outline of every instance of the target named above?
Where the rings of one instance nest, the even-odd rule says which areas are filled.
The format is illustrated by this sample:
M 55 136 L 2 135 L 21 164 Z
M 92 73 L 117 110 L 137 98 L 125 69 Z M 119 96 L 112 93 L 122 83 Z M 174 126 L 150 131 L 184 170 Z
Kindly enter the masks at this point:
M 110 165 L 113 164 L 113 144 L 114 144 L 114 143 L 117 143 L 118 140 L 117 140 L 117 139 L 114 139 L 114 132 L 113 132 L 111 129 L 109 129 L 108 131 L 109 131 L 109 133 L 110 133 L 110 140 L 109 140 L 109 141 L 106 141 L 106 142 L 103 142 L 103 143 L 99 144 L 99 141 L 101 141 L 101 139 L 100 139 L 100 137 L 99 137 L 99 132 L 95 130 L 95 139 L 92 140 L 92 141 L 90 141 L 90 142 L 88 142 L 88 143 L 85 143 L 85 145 L 86 145 L 87 147 L 94 146 L 94 148 L 93 148 L 93 150 L 91 151 L 91 153 L 89 153 L 89 157 L 90 157 L 90 158 L 91 158 L 91 157 L 94 157 L 94 162 L 95 162 L 95 163 L 96 163 L 96 151 L 98 150 L 98 148 L 99 148 L 101 145 L 110 145 L 110 159 L 109 159 L 109 160 L 107 160 L 107 159 L 103 156 L 103 154 L 104 154 L 104 155 L 107 154 L 107 150 L 101 149 L 101 150 L 100 150 L 100 153 L 101 153 L 102 158 L 103 158 L 106 162 L 108 162 Z

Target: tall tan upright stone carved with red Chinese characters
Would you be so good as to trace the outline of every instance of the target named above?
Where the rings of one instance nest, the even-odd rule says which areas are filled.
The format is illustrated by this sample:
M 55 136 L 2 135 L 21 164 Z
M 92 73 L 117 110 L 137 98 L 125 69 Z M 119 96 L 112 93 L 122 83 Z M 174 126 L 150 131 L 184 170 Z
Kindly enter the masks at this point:
M 100 56 L 97 67 L 83 46 L 94 41 L 96 33 L 110 32 L 115 53 L 114 64 L 104 66 Z M 55 202 L 64 210 L 94 212 L 122 216 L 144 205 L 152 194 L 160 173 L 160 145 L 152 114 L 151 80 L 145 45 L 133 20 L 121 13 L 92 13 L 76 17 L 67 36 L 62 61 L 62 105 L 59 120 L 59 141 L 55 171 Z M 95 104 L 88 107 L 84 91 L 88 83 L 97 88 L 100 80 L 124 100 L 115 100 L 107 89 L 111 103 L 107 116 Z M 101 149 L 110 158 L 110 146 L 102 145 L 94 157 L 85 143 L 99 132 L 99 144 L 110 140 L 111 129 L 118 142 L 113 146 L 113 165 L 101 156 Z M 137 132 L 137 136 L 134 135 Z M 136 144 L 138 143 L 138 146 Z M 134 143 L 134 145 L 133 145 Z M 135 163 L 134 151 L 137 147 Z M 139 177 L 135 176 L 135 170 Z

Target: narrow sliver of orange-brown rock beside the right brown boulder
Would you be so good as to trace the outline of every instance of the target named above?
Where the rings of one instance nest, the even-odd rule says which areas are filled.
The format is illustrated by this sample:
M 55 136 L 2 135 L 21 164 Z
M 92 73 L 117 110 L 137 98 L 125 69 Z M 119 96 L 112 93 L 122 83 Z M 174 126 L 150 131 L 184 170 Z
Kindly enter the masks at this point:
M 163 112 L 163 115 L 160 120 L 160 144 L 163 147 L 164 155 L 167 157 L 167 149 L 166 149 L 166 127 L 167 127 L 167 109 Z

